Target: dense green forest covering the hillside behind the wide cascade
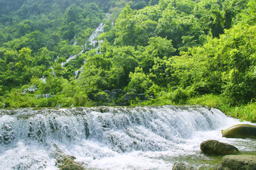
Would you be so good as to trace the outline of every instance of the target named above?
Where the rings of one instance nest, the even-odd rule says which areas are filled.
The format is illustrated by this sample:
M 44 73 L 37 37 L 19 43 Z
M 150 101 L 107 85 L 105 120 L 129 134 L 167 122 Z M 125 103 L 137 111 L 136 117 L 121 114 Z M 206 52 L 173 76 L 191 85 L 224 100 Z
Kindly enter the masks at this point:
M 201 104 L 256 120 L 255 0 L 0 6 L 4 108 L 116 105 L 143 94 L 125 103 Z M 110 96 L 117 89 L 125 92 Z

